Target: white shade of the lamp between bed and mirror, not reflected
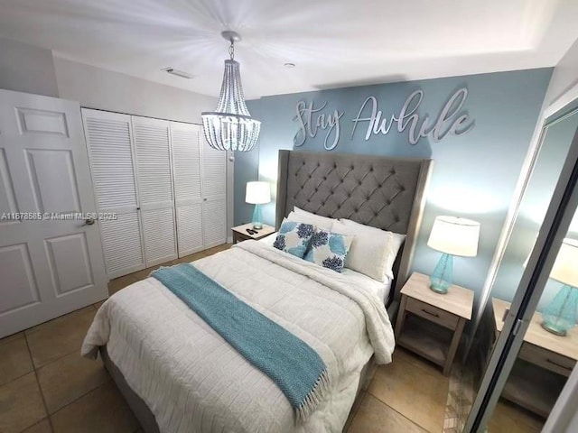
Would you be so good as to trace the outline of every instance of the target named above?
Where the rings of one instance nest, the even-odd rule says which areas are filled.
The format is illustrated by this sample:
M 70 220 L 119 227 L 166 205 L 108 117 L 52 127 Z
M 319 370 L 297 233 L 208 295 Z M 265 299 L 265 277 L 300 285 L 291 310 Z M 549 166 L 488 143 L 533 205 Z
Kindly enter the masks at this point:
M 480 223 L 458 217 L 436 217 L 427 246 L 446 254 L 475 257 Z

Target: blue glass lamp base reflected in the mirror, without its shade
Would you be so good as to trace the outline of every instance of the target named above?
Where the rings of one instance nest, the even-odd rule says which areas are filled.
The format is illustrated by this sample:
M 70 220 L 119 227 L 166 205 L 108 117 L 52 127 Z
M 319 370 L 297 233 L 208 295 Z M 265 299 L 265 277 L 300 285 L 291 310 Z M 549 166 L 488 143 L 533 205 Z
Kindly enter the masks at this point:
M 565 336 L 576 324 L 578 289 L 565 285 L 542 312 L 542 327 L 556 336 Z

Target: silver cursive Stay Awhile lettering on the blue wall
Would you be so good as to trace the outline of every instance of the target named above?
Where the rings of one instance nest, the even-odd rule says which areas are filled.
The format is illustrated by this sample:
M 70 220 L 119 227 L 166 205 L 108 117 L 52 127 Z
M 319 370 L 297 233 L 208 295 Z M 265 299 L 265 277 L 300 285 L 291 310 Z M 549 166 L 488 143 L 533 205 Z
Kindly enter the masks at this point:
M 448 99 L 440 110 L 437 119 L 432 123 L 429 115 L 419 115 L 417 110 L 424 100 L 424 91 L 415 90 L 409 97 L 398 114 L 392 113 L 389 117 L 384 116 L 378 109 L 378 99 L 368 97 L 359 107 L 358 115 L 351 119 L 353 127 L 350 140 L 353 139 L 358 124 L 367 123 L 365 129 L 365 140 L 372 135 L 386 135 L 395 130 L 403 133 L 408 129 L 408 140 L 410 144 L 417 144 L 420 138 L 430 137 L 433 142 L 438 143 L 447 134 L 461 135 L 471 131 L 474 121 L 466 112 L 461 112 L 461 107 L 468 97 L 467 88 L 459 88 L 452 97 Z M 315 107 L 313 101 L 307 105 L 300 101 L 295 106 L 296 115 L 294 120 L 299 123 L 299 131 L 294 136 L 294 145 L 303 146 L 308 137 L 313 138 L 320 130 L 325 132 L 323 147 L 331 151 L 335 149 L 340 141 L 341 118 L 344 111 L 338 109 L 332 112 L 323 111 L 327 107 L 327 101 L 322 106 Z M 394 128 L 394 124 L 396 125 Z

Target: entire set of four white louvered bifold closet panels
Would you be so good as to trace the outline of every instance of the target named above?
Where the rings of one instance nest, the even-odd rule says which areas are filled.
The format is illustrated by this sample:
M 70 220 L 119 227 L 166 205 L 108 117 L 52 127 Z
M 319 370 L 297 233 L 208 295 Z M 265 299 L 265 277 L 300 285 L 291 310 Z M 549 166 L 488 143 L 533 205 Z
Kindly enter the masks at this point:
M 108 278 L 227 242 L 227 154 L 200 125 L 82 109 Z

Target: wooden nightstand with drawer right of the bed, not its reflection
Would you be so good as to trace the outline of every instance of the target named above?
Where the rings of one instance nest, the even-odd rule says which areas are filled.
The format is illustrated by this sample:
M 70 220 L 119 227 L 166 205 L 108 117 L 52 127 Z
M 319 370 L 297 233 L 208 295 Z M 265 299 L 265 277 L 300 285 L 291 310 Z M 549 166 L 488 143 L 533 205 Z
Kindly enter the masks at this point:
M 471 319 L 473 291 L 452 285 L 444 295 L 430 289 L 428 276 L 414 272 L 401 290 L 396 343 L 424 356 L 450 374 L 466 321 Z

